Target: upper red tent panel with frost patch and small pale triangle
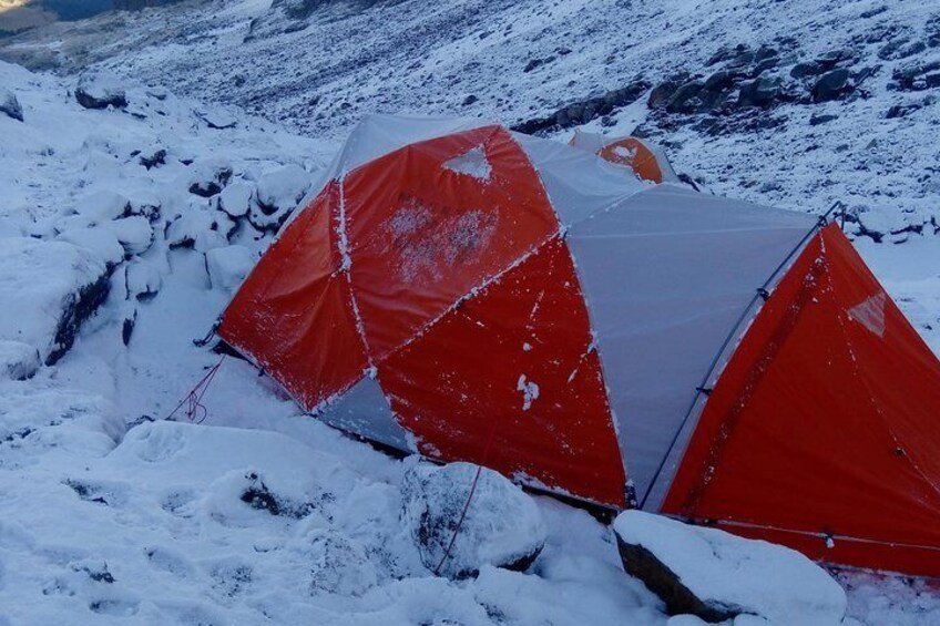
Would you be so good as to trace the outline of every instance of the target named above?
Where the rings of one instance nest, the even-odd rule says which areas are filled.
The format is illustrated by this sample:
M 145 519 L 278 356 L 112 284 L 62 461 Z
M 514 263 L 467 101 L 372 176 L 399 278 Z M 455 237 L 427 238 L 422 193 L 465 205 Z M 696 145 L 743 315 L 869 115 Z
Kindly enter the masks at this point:
M 344 179 L 356 302 L 375 362 L 558 232 L 507 131 L 411 144 Z

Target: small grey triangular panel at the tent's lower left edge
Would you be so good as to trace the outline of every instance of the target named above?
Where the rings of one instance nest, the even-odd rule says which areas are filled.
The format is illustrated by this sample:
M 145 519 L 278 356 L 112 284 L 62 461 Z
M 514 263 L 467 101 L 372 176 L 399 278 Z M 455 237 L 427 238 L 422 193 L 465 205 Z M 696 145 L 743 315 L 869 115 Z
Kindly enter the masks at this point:
M 397 450 L 415 451 L 413 437 L 396 421 L 381 387 L 369 377 L 357 382 L 317 417 L 331 427 L 365 434 Z

